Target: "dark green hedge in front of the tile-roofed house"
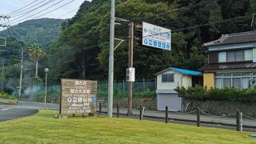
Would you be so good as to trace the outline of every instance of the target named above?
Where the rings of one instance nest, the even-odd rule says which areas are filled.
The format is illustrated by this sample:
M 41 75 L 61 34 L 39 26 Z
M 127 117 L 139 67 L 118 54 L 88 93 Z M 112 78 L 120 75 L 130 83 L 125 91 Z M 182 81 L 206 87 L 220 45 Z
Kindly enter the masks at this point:
M 202 86 L 177 87 L 179 97 L 190 101 L 234 101 L 256 102 L 256 86 L 249 89 L 237 90 L 234 88 L 210 89 Z

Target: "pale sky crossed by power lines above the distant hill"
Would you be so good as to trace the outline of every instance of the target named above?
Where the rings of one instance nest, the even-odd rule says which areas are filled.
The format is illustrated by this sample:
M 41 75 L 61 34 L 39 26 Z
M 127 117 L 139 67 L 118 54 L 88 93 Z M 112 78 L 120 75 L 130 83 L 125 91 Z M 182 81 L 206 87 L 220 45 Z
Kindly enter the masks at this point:
M 47 12 L 50 12 L 51 10 L 54 10 L 63 5 L 66 6 L 63 6 L 58 10 L 54 10 L 49 14 L 40 16 L 39 18 L 72 18 L 77 13 L 79 6 L 81 6 L 82 2 L 84 1 L 85 0 L 1 0 L 0 14 L 10 15 L 10 18 L 9 22 L 7 21 L 7 19 L 6 21 L 2 19 L 2 22 L 0 21 L 0 24 L 8 22 L 10 26 L 14 26 L 20 22 L 24 22 L 34 18 L 37 19 L 38 16 L 46 14 Z M 30 4 L 31 2 L 34 3 Z M 23 11 L 19 10 L 22 7 L 24 7 L 22 9 Z M 16 14 L 12 13 L 15 10 L 18 10 L 17 12 L 15 12 Z

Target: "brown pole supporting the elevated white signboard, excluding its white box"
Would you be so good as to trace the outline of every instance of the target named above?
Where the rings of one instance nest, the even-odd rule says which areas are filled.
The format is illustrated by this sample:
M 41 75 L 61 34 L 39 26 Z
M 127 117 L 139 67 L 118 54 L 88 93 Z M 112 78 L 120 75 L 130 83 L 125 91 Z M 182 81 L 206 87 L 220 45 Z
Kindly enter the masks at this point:
M 134 22 L 129 23 L 129 63 L 128 67 L 132 68 L 134 65 Z M 128 82 L 128 115 L 132 115 L 133 108 L 133 82 Z

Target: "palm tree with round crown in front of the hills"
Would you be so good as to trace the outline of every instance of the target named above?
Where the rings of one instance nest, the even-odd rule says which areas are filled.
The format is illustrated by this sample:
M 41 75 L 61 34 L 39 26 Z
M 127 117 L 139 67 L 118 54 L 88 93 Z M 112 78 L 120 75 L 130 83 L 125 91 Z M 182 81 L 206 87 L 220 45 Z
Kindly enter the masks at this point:
M 39 44 L 33 44 L 28 50 L 30 57 L 34 59 L 35 62 L 35 78 L 38 78 L 38 61 L 45 55 L 42 51 L 42 47 Z

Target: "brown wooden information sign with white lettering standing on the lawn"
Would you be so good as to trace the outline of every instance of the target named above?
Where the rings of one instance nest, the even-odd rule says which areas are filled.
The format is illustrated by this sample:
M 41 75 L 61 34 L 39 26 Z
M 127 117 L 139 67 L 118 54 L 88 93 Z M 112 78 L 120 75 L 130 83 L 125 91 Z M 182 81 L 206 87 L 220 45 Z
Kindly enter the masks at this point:
M 60 114 L 96 114 L 96 94 L 97 81 L 62 79 Z

